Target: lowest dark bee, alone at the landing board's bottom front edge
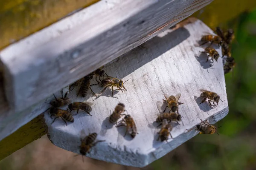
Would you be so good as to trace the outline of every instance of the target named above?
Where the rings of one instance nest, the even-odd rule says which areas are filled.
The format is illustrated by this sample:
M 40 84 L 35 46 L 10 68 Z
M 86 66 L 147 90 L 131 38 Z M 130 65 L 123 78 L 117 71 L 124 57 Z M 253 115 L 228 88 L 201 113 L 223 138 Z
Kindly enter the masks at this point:
M 97 133 L 91 133 L 88 136 L 85 136 L 84 139 L 81 138 L 81 145 L 80 145 L 80 153 L 84 156 L 87 153 L 90 153 L 90 149 L 95 146 L 99 142 L 105 142 L 105 140 L 96 141 Z

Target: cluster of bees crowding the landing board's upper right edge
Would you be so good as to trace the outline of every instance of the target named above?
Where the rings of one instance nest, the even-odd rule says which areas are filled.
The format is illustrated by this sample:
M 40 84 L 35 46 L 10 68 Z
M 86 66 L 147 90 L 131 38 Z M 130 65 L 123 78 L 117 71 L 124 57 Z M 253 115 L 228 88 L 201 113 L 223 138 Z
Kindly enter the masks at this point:
M 201 41 L 204 41 L 204 43 L 202 43 L 201 45 L 206 44 L 207 42 L 211 42 L 218 44 L 218 46 L 222 47 L 222 57 L 225 59 L 224 61 L 224 74 L 227 74 L 231 71 L 233 71 L 233 69 L 236 66 L 236 62 L 235 59 L 231 56 L 231 43 L 232 41 L 235 39 L 235 35 L 234 35 L 234 31 L 233 29 L 228 29 L 226 31 L 223 31 L 220 27 L 217 27 L 215 29 L 215 32 L 217 35 L 205 35 L 202 37 Z M 204 49 L 204 51 L 201 51 L 202 53 L 207 53 L 208 57 L 207 57 L 207 61 L 209 57 L 213 59 L 215 59 L 215 61 L 218 61 L 218 58 L 220 57 L 220 55 L 218 54 L 218 52 L 212 48 L 211 46 L 208 46 L 207 48 Z

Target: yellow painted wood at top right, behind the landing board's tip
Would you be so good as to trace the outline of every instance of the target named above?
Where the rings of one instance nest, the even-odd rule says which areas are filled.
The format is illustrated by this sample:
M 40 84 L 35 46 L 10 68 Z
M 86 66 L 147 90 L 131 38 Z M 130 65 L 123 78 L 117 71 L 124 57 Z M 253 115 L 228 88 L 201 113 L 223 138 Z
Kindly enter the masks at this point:
M 214 0 L 208 6 L 195 12 L 193 16 L 214 30 L 216 26 L 226 23 L 242 12 L 255 8 L 256 0 Z

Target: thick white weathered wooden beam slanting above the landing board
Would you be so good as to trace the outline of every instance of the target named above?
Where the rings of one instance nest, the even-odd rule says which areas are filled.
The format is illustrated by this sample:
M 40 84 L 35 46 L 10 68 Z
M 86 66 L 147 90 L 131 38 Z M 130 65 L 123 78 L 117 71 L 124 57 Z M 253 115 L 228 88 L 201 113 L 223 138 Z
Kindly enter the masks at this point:
M 6 96 L 15 111 L 130 51 L 212 0 L 108 0 L 74 14 L 64 32 L 49 26 L 0 52 Z M 111 4 L 111 5 L 109 5 Z M 77 20 L 84 18 L 82 23 Z M 49 32 L 49 35 L 46 33 Z M 38 42 L 37 42 L 38 40 Z M 37 116 L 37 115 L 35 115 Z

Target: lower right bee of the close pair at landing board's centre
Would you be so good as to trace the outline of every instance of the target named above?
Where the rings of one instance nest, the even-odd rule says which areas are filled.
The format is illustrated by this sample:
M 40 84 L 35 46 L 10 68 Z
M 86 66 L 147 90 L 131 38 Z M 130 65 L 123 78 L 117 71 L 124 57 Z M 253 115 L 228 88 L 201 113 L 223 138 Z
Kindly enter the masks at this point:
M 134 138 L 137 134 L 137 127 L 135 125 L 134 120 L 131 118 L 130 115 L 126 115 L 124 119 L 122 119 L 119 123 L 125 122 L 126 125 L 118 125 L 116 127 L 119 126 L 125 126 L 126 127 L 126 131 L 125 131 L 125 136 L 127 134 L 127 132 L 129 133 L 129 135 L 131 135 L 132 138 Z

